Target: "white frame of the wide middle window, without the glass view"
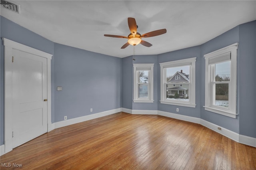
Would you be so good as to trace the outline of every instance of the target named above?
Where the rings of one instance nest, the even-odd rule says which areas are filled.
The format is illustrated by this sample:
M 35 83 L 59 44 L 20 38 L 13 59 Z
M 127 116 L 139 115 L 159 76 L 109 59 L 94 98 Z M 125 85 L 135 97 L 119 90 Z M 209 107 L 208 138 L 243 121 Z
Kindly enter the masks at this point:
M 183 83 L 189 85 L 189 101 L 170 101 L 166 99 L 166 69 L 171 67 L 180 67 L 180 66 L 190 66 L 190 82 Z M 188 59 L 180 59 L 175 61 L 168 61 L 164 63 L 160 63 L 160 103 L 167 105 L 177 105 L 184 107 L 196 107 L 196 57 L 188 58 Z

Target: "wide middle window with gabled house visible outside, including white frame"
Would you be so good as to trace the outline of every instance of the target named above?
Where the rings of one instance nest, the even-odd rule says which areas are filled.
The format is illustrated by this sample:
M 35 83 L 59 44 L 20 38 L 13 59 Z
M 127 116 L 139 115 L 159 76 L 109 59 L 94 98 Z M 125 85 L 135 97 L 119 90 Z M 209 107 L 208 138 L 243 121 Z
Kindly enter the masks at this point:
M 196 57 L 160 63 L 160 103 L 196 107 L 195 68 Z

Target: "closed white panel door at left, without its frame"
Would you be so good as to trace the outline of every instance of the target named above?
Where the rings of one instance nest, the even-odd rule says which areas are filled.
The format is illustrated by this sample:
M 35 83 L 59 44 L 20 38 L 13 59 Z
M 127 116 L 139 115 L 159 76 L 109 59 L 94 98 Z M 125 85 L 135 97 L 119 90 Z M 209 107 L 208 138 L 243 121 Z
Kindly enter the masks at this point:
M 12 55 L 12 147 L 15 148 L 47 132 L 47 59 L 16 49 L 12 49 Z

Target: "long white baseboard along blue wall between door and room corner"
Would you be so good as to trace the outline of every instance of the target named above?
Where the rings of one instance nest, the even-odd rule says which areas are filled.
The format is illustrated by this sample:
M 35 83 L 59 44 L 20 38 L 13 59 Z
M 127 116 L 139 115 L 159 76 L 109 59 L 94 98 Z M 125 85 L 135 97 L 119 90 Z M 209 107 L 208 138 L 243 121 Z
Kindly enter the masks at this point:
M 118 113 L 120 111 L 122 111 L 122 109 L 118 108 L 118 109 L 113 109 L 113 110 L 110 110 L 110 111 L 94 113 L 92 115 L 86 115 L 86 116 L 83 116 L 83 117 L 77 117 L 77 118 L 74 118 L 74 119 L 68 119 L 66 121 L 55 122 L 54 123 L 54 127 L 55 128 L 65 127 L 65 126 L 68 126 L 68 125 L 73 125 L 75 123 L 80 123 L 80 122 L 96 119 L 96 118 L 99 118 L 99 117 L 103 117 L 103 116 L 107 116 L 107 115 L 112 115 L 112 114 Z

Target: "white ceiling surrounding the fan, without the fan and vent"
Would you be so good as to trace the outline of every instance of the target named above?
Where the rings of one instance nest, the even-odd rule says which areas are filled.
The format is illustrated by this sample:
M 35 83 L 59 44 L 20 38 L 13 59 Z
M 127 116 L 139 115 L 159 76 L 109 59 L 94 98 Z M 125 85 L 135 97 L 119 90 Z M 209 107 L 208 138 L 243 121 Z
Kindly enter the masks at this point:
M 151 47 L 136 45 L 136 55 L 160 54 L 205 43 L 256 20 L 256 1 L 12 1 L 20 14 L 1 7 L 1 15 L 52 42 L 115 57 L 133 54 L 120 49 L 128 36 L 127 18 L 136 19 L 138 32 L 166 28 L 167 33 L 143 38 Z

